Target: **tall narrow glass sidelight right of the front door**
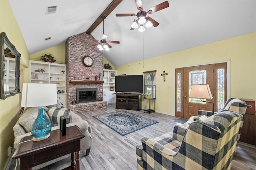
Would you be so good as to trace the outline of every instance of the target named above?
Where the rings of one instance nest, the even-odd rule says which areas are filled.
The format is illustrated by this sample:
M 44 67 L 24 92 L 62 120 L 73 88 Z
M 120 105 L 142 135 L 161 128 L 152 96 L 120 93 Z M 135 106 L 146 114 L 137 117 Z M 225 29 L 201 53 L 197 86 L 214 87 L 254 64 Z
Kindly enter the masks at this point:
M 218 69 L 217 73 L 218 73 L 218 93 L 217 93 L 218 104 L 217 104 L 217 106 L 218 106 L 218 112 L 219 112 L 224 107 L 224 94 L 225 94 L 224 73 L 225 73 L 225 69 Z

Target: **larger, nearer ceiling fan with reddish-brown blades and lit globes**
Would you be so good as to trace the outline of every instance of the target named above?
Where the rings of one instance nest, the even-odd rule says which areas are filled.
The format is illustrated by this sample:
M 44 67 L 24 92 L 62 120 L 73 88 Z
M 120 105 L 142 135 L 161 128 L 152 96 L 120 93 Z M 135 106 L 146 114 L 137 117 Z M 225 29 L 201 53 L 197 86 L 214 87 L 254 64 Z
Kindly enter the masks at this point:
M 146 17 L 147 14 L 152 14 L 154 12 L 158 12 L 164 8 L 168 8 L 169 7 L 169 3 L 168 1 L 162 2 L 161 4 L 158 4 L 156 6 L 153 6 L 152 8 L 148 9 L 148 12 L 143 10 L 143 6 L 142 6 L 142 0 L 135 0 L 137 9 L 140 10 L 137 14 L 116 14 L 116 16 L 137 16 L 138 19 L 134 20 L 131 26 L 131 30 L 134 30 L 136 28 L 139 29 L 139 32 L 144 32 L 145 28 L 143 27 L 143 24 L 145 24 L 145 27 L 150 28 L 152 26 L 157 27 L 159 25 L 158 22 L 156 22 L 155 20 L 153 20 L 151 17 Z

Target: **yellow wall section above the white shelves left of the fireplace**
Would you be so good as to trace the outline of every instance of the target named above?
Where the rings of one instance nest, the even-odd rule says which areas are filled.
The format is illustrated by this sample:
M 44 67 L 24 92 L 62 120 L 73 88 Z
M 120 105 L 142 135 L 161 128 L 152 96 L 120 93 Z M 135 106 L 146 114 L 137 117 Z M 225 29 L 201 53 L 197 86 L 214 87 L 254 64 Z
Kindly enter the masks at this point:
M 66 53 L 66 44 L 60 44 L 56 45 L 54 47 L 39 51 L 37 53 L 31 54 L 29 59 L 30 60 L 35 60 L 35 61 L 42 61 L 40 60 L 40 57 L 44 54 L 51 54 L 55 59 L 55 63 L 61 63 L 65 64 L 65 53 Z

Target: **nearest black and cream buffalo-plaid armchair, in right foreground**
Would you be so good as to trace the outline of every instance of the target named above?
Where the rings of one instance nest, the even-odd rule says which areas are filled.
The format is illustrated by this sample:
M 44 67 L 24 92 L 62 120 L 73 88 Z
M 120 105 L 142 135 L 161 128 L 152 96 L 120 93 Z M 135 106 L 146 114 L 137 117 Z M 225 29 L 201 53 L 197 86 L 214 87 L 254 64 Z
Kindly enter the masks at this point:
M 190 123 L 182 141 L 166 133 L 143 137 L 138 170 L 227 170 L 231 168 L 243 115 L 232 111 Z

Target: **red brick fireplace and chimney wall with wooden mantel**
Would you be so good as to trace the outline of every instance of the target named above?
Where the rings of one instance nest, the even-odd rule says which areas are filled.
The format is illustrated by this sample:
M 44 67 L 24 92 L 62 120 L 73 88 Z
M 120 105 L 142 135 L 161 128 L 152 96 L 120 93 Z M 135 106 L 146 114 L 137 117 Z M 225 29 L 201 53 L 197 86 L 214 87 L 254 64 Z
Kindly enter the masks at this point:
M 107 107 L 106 101 L 72 104 L 73 99 L 76 99 L 77 88 L 97 89 L 97 99 L 103 95 L 102 83 L 95 81 L 95 76 L 98 76 L 99 73 L 102 75 L 103 72 L 103 53 L 93 45 L 95 43 L 97 41 L 86 33 L 69 37 L 66 41 L 67 107 L 74 112 Z M 94 62 L 92 67 L 85 67 L 82 64 L 82 57 L 84 56 L 92 57 Z M 75 77 L 80 81 L 74 83 Z

